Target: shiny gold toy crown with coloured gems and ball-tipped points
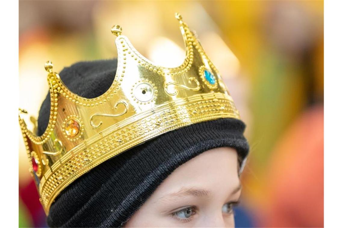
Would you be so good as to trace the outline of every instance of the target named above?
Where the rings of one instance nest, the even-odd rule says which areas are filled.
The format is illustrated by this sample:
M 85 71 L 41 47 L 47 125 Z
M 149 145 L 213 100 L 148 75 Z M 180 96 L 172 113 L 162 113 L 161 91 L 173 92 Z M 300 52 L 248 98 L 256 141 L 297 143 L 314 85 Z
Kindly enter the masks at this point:
M 143 57 L 122 29 L 116 38 L 115 79 L 101 96 L 71 92 L 48 61 L 50 118 L 42 136 L 27 129 L 19 115 L 30 172 L 46 214 L 58 194 L 98 164 L 184 126 L 219 118 L 240 119 L 223 80 L 199 41 L 182 21 L 186 58 L 181 66 L 156 66 Z M 20 113 L 27 113 L 20 109 Z

